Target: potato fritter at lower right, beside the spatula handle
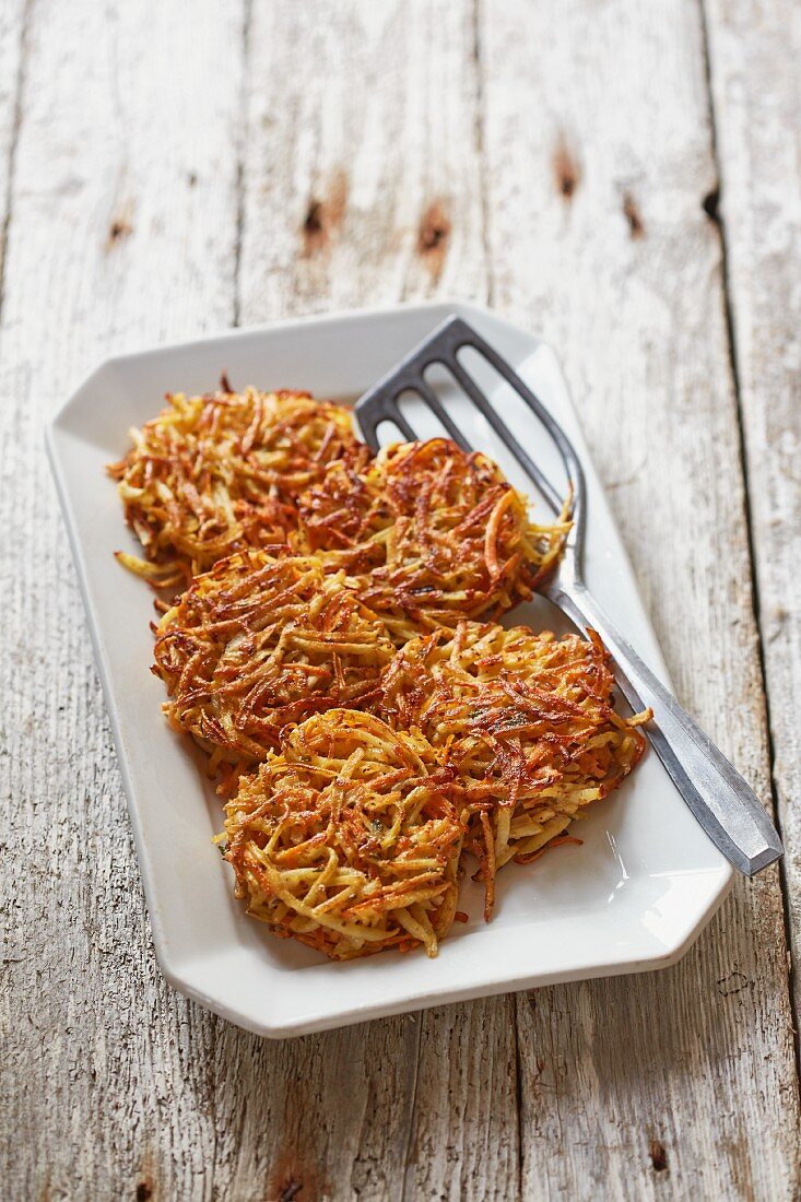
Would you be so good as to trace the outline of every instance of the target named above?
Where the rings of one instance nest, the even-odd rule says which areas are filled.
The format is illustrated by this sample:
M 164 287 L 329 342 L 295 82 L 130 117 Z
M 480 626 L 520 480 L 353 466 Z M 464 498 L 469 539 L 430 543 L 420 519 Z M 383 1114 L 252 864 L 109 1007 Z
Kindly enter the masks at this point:
M 461 783 L 487 918 L 496 873 L 530 862 L 640 760 L 651 714 L 616 714 L 613 683 L 597 636 L 470 621 L 409 642 L 384 673 L 382 715 L 419 728 Z

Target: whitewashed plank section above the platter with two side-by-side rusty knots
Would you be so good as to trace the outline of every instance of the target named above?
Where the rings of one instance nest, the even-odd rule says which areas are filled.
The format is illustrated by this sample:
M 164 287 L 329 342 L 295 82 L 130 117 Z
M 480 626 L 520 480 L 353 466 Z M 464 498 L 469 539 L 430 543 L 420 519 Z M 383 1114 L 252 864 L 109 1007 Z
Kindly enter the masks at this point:
M 254 8 L 243 320 L 483 294 L 470 11 Z

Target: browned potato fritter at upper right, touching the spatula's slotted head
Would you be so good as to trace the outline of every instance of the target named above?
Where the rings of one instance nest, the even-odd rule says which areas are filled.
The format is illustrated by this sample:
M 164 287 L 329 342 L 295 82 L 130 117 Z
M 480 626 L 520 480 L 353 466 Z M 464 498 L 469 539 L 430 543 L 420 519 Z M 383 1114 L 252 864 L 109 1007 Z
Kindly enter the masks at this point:
M 532 525 L 498 465 L 449 439 L 332 464 L 298 508 L 292 545 L 354 577 L 398 644 L 530 597 L 569 529 Z

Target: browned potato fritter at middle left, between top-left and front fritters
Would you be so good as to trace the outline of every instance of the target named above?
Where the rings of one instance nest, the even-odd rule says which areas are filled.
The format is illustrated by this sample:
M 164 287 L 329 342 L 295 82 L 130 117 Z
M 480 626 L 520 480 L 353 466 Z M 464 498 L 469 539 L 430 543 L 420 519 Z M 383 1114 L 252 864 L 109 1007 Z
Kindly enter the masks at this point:
M 375 696 L 393 647 L 381 623 L 315 559 L 242 552 L 198 576 L 156 630 L 165 712 L 224 772 L 278 749 L 309 714 Z

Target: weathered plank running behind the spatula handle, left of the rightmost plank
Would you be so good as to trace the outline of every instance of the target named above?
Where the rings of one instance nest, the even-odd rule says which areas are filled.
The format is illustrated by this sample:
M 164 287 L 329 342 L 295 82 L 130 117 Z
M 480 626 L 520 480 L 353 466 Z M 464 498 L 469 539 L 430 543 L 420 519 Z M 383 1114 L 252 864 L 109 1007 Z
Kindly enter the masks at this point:
M 699 11 L 481 10 L 496 300 L 559 349 L 678 692 L 767 801 Z M 676 969 L 517 1013 L 526 1195 L 796 1195 L 776 870 Z

